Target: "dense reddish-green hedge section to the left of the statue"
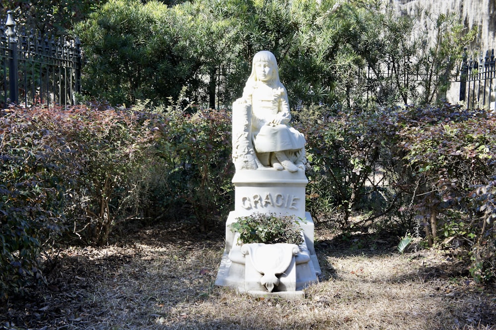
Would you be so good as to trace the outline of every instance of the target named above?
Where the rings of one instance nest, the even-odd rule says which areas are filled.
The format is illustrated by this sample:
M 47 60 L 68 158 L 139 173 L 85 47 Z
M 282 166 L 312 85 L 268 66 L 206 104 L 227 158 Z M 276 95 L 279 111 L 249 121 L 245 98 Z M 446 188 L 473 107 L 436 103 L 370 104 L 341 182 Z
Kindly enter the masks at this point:
M 40 252 L 61 239 L 101 244 L 123 220 L 185 206 L 203 229 L 225 215 L 230 122 L 172 107 L 1 110 L 0 298 L 42 279 Z

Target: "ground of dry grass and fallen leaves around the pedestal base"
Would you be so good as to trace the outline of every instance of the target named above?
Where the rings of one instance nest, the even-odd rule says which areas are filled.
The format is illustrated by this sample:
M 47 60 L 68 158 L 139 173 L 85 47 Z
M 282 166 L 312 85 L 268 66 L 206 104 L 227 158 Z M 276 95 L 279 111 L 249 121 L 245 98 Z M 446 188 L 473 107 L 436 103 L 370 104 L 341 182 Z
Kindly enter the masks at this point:
M 319 283 L 303 300 L 256 299 L 214 285 L 223 229 L 127 231 L 58 251 L 47 285 L 0 306 L 0 329 L 496 329 L 496 287 L 471 280 L 454 250 L 401 255 L 397 237 L 317 226 Z

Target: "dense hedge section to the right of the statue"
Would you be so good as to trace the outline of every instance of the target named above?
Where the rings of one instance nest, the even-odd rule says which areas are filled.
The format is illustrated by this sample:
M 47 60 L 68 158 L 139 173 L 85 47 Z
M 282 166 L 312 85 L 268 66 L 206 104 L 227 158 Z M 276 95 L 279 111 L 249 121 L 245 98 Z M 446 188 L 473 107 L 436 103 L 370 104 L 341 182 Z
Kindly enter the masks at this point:
M 298 114 L 308 142 L 308 204 L 326 218 L 353 210 L 402 221 L 427 245 L 464 245 L 480 280 L 495 273 L 496 116 L 458 106 L 371 112 L 312 107 Z M 420 230 L 420 232 L 419 232 Z

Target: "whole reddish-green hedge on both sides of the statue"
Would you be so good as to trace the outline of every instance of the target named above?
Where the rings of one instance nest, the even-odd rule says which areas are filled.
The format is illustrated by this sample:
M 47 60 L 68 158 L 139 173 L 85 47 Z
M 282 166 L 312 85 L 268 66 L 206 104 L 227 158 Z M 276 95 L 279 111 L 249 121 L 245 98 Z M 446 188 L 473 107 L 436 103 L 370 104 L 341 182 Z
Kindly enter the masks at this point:
M 1 111 L 2 298 L 42 279 L 40 253 L 63 240 L 104 243 L 116 224 L 138 218 L 191 218 L 203 230 L 225 220 L 230 112 L 149 108 Z M 295 118 L 307 136 L 307 208 L 317 220 L 338 210 L 349 229 L 360 210 L 359 224 L 395 221 L 426 245 L 465 247 L 476 279 L 496 275 L 494 114 L 449 104 L 314 106 Z

